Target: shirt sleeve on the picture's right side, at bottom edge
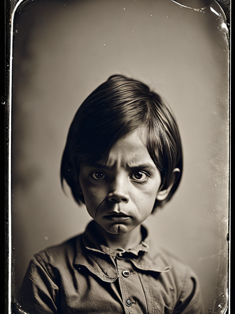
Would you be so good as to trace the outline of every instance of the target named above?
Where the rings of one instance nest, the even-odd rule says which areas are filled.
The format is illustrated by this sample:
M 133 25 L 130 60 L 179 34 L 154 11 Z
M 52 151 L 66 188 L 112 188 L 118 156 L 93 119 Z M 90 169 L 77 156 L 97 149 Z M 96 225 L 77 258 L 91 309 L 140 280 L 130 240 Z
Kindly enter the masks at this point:
M 201 291 L 196 274 L 187 270 L 180 298 L 173 314 L 204 314 Z

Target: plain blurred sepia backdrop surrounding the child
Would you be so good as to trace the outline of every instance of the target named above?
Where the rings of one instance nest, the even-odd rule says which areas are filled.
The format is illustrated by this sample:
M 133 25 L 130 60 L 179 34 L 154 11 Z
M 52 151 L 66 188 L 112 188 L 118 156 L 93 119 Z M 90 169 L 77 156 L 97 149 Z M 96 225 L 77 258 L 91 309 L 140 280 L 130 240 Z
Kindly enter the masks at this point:
M 38 0 L 19 7 L 12 86 L 16 293 L 34 253 L 81 233 L 90 221 L 69 188 L 67 195 L 61 190 L 60 159 L 81 102 L 110 75 L 121 73 L 163 96 L 175 113 L 183 143 L 180 187 L 144 225 L 156 242 L 196 272 L 205 310 L 224 311 L 227 26 L 216 1 L 180 3 Z

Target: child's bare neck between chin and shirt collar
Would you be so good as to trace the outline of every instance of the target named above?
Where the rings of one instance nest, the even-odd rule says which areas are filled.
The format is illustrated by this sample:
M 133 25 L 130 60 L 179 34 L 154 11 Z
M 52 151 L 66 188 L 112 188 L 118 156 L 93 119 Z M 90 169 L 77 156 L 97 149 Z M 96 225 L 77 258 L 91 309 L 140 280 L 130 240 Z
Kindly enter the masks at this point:
M 103 244 L 112 250 L 124 249 L 128 250 L 137 246 L 141 240 L 141 225 L 124 234 L 112 234 L 104 230 L 100 225 L 96 225 L 99 234 L 102 237 Z

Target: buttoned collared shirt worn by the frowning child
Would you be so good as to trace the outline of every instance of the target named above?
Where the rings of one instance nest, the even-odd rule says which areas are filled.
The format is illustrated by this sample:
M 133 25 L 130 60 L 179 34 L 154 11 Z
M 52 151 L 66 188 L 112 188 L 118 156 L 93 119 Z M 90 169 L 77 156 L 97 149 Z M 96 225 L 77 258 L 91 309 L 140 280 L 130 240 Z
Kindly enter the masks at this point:
M 143 226 L 142 242 L 125 251 L 101 244 L 94 223 L 34 256 L 16 305 L 19 313 L 203 314 L 196 275 L 155 247 Z

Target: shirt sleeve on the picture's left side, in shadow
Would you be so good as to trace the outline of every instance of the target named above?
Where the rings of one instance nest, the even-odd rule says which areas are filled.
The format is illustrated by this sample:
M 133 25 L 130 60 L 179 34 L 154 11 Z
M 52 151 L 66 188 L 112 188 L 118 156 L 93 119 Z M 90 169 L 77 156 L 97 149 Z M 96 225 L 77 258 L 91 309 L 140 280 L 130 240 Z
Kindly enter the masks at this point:
M 35 255 L 20 289 L 18 306 L 29 314 L 57 314 L 59 287 L 55 283 L 50 264 Z

